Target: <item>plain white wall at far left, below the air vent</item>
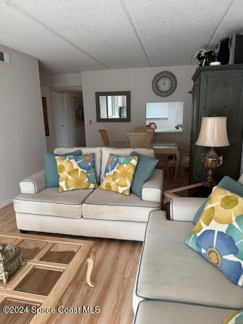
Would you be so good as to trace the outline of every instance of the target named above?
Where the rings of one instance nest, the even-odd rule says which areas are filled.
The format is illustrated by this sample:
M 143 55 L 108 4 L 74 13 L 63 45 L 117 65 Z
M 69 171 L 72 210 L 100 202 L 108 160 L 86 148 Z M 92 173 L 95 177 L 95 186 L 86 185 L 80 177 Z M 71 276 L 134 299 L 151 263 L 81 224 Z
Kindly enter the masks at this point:
M 45 128 L 37 59 L 5 48 L 0 62 L 0 207 L 20 192 L 23 178 L 44 169 Z

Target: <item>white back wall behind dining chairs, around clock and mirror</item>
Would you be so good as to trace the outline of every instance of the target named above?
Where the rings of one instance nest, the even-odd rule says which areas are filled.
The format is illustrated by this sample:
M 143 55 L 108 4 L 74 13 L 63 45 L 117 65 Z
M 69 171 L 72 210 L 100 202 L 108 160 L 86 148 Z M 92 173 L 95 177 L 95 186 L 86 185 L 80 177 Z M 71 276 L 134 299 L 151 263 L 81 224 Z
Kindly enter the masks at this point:
M 99 129 L 106 129 L 111 141 L 126 140 L 126 134 L 134 132 L 136 127 L 145 125 L 146 102 L 184 102 L 183 133 L 156 134 L 156 141 L 176 142 L 181 148 L 189 148 L 191 124 L 191 77 L 196 69 L 194 65 L 117 69 L 82 72 L 82 87 L 85 112 L 85 132 L 87 146 L 100 146 Z M 177 77 L 177 89 L 169 97 L 158 97 L 151 84 L 154 75 L 168 70 Z M 96 91 L 131 91 L 131 123 L 97 123 Z M 89 121 L 92 120 L 92 125 Z

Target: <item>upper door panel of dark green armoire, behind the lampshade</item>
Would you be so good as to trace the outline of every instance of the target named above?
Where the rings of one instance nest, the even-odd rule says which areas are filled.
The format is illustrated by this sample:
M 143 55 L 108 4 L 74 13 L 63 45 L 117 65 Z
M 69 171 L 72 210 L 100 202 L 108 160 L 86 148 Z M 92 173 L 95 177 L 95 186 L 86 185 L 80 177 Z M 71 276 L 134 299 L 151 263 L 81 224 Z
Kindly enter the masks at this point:
M 227 116 L 229 142 L 236 143 L 241 76 L 208 77 L 206 116 Z

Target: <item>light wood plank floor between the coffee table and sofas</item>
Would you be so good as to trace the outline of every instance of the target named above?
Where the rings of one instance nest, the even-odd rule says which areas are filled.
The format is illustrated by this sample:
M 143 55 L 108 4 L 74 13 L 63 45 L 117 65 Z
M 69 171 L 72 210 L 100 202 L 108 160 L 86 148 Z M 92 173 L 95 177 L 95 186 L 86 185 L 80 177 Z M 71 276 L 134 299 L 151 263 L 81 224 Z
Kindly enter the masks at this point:
M 164 168 L 163 168 L 164 169 Z M 165 177 L 164 190 L 174 188 L 173 176 L 168 183 Z M 188 171 L 179 169 L 178 186 L 188 184 Z M 0 209 L 0 231 L 18 232 L 13 204 Z M 31 232 L 29 232 L 31 234 Z M 32 234 L 52 235 L 50 233 L 32 232 Z M 70 287 L 63 296 L 64 307 L 99 306 L 99 314 L 59 314 L 52 318 L 54 324 L 132 324 L 133 287 L 142 249 L 142 242 L 124 241 L 106 238 L 77 237 L 94 241 L 93 249 L 97 259 L 93 278 L 96 288 L 86 284 L 86 265 L 76 274 Z

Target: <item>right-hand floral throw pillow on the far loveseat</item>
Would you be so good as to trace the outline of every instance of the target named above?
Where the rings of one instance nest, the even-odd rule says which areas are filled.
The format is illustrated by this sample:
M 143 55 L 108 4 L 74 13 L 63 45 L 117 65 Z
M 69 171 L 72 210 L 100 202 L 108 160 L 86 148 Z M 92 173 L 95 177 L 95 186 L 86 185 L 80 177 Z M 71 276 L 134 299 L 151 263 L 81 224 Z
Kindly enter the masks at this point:
M 129 195 L 137 163 L 136 155 L 121 157 L 110 153 L 100 188 Z

